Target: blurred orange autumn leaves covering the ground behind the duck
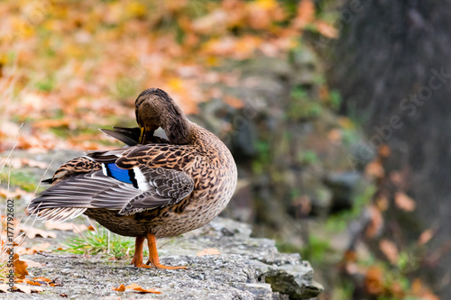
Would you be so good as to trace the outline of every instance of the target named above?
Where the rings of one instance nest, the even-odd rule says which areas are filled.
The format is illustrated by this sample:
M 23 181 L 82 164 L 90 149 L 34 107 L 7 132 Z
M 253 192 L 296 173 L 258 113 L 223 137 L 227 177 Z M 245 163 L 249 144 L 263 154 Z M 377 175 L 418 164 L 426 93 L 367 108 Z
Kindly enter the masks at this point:
M 158 86 L 188 114 L 239 74 L 226 59 L 281 56 L 315 20 L 313 2 L 7 1 L 0 6 L 0 150 L 97 149 L 99 126 L 133 124 L 133 100 Z M 317 22 L 317 23 L 316 23 Z M 58 136 L 64 139 L 58 139 Z

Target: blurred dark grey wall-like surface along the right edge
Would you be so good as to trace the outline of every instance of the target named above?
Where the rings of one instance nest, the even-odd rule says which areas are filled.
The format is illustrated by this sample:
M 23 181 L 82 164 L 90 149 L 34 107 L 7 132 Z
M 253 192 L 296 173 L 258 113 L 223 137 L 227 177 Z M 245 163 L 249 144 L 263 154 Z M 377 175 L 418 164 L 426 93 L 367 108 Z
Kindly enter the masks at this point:
M 437 229 L 425 262 L 436 291 L 451 295 L 451 1 L 357 1 L 331 47 L 329 82 L 341 92 L 342 113 L 364 123 L 366 149 L 391 147 L 387 174 L 403 175 L 417 202 L 419 226 L 403 226 L 412 241 L 421 230 Z M 348 1 L 346 5 L 355 3 Z M 359 154 L 360 153 L 360 154 Z M 360 155 L 360 157 L 359 157 Z M 391 201 L 393 199 L 391 198 Z M 387 214 L 388 223 L 400 214 Z M 396 221 L 395 221 L 396 222 Z M 393 236 L 387 226 L 385 234 Z M 436 251 L 437 250 L 437 251 Z

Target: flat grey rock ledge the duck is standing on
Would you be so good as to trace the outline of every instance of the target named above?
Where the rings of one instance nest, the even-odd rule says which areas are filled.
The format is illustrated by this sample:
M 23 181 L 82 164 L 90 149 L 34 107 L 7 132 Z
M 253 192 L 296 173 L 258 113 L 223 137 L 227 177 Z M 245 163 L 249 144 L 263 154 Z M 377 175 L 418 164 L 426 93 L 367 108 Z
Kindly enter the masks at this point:
M 59 277 L 63 286 L 45 286 L 40 294 L 0 294 L 8 299 L 310 299 L 322 287 L 312 279 L 313 269 L 299 254 L 280 253 L 275 242 L 250 237 L 244 223 L 215 221 L 178 238 L 161 239 L 161 262 L 184 265 L 186 270 L 134 268 L 127 260 L 83 258 L 77 255 L 23 256 L 43 268 L 29 268 L 29 277 Z M 220 255 L 197 256 L 215 248 Z M 112 287 L 138 284 L 161 294 L 138 294 Z

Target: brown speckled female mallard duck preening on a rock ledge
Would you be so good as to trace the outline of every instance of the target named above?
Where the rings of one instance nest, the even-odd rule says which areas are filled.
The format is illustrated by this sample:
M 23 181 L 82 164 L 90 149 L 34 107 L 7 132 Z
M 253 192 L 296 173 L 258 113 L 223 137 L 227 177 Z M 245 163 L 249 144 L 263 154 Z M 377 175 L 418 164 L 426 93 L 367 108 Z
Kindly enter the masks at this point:
M 45 221 L 86 214 L 112 232 L 136 237 L 134 266 L 185 268 L 161 265 L 155 239 L 192 231 L 215 218 L 235 191 L 235 161 L 222 141 L 189 122 L 161 89 L 143 91 L 135 105 L 140 129 L 104 131 L 132 146 L 69 160 L 28 210 Z M 168 141 L 153 136 L 158 127 Z

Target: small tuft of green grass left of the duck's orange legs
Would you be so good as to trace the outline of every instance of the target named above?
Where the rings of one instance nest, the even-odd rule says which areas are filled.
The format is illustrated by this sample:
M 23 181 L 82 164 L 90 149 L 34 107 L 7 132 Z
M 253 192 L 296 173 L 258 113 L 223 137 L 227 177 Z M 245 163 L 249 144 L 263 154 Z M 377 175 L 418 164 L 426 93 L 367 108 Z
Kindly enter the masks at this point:
M 102 254 L 115 259 L 128 259 L 134 253 L 133 238 L 108 232 L 104 227 L 98 228 L 97 232 L 84 232 L 70 238 L 65 245 L 67 248 L 62 251 L 84 255 Z

